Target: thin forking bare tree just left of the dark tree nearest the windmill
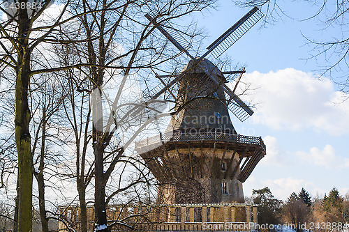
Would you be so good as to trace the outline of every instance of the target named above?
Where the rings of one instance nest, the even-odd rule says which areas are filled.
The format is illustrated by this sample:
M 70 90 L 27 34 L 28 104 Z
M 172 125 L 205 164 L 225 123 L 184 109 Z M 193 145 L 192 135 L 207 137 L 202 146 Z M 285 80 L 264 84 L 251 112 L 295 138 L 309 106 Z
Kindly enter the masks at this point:
M 62 65 L 69 65 L 72 63 L 71 59 L 80 57 L 80 49 L 77 49 L 77 45 L 57 45 L 54 49 L 58 62 Z M 82 232 L 87 232 L 86 191 L 94 177 L 94 159 L 88 151 L 91 146 L 89 86 L 88 82 L 81 78 L 85 76 L 81 71 L 64 70 L 57 75 L 68 82 L 68 98 L 63 102 L 64 118 L 67 119 L 64 124 L 68 130 L 73 132 L 73 141 L 66 141 L 66 144 L 75 148 L 75 172 L 68 178 L 76 179 L 80 205 L 80 229 Z

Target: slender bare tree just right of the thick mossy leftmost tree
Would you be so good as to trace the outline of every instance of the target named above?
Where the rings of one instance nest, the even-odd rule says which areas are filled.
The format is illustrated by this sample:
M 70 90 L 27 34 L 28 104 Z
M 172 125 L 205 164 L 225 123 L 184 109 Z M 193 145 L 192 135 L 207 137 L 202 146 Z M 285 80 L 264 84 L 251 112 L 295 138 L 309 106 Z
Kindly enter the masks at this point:
M 34 177 L 38 183 L 38 214 L 43 232 L 49 231 L 49 220 L 45 198 L 47 190 L 54 189 L 53 176 L 59 175 L 55 170 L 57 163 L 65 162 L 59 151 L 54 146 L 63 146 L 61 133 L 59 133 L 59 109 L 68 95 L 66 82 L 60 82 L 54 75 L 40 75 L 32 78 L 31 109 L 34 131 L 32 154 L 34 157 Z M 62 149 L 63 150 L 63 149 Z M 52 214 L 52 213 L 51 213 Z

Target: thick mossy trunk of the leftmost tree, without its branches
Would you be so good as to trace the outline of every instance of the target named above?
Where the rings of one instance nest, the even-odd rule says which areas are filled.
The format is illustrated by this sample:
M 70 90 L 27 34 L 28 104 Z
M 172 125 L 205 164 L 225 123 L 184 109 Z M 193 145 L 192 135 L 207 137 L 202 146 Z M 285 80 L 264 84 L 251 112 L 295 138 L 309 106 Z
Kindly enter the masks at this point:
M 30 78 L 30 56 L 27 34 L 29 20 L 27 9 L 20 9 L 18 21 L 18 53 L 15 86 L 15 139 L 18 154 L 18 230 L 31 231 L 32 217 L 32 185 L 33 169 L 31 158 L 31 138 L 29 134 L 29 122 L 31 114 L 28 105 L 28 85 Z

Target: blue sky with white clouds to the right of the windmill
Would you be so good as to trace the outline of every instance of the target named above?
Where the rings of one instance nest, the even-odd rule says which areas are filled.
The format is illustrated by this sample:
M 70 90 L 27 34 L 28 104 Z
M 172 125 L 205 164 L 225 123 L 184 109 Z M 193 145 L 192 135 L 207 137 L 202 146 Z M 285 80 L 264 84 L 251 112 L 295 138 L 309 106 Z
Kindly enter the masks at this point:
M 198 14 L 198 24 L 209 35 L 204 45 L 249 10 L 232 1 L 218 1 L 218 5 L 210 14 Z M 306 60 L 312 51 L 304 38 L 339 35 L 332 28 L 320 31 L 318 20 L 300 21 L 315 12 L 309 3 L 290 1 L 280 6 L 293 19 L 283 17 L 266 28 L 259 22 L 224 54 L 246 66 L 242 82 L 250 83 L 253 91 L 242 98 L 255 104 L 253 116 L 244 123 L 231 116 L 233 124 L 238 133 L 260 136 L 267 145 L 267 155 L 244 183 L 244 195 L 262 187 L 283 200 L 302 187 L 313 197 L 333 187 L 345 195 L 349 192 L 349 100 L 343 100 L 349 95 L 341 93 L 327 75 L 319 75 L 325 61 Z

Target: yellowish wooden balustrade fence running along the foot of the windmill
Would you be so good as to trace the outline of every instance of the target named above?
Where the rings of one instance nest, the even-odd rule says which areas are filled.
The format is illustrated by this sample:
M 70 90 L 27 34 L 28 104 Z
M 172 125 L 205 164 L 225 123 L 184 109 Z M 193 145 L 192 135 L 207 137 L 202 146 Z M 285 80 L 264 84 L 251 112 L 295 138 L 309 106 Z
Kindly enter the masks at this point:
M 246 203 L 109 206 L 110 231 L 255 231 L 257 205 Z M 79 207 L 61 207 L 59 231 L 80 231 Z M 94 208 L 87 210 L 88 230 Z

